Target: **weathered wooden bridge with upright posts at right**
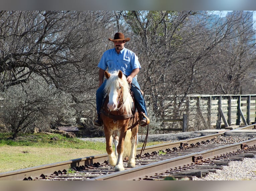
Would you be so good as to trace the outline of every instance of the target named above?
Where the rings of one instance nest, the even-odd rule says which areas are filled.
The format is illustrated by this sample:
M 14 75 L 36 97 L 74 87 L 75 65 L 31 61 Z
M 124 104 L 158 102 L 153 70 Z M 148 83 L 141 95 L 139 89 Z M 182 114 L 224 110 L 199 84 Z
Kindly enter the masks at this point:
M 188 99 L 188 111 L 192 114 L 196 109 L 208 125 L 217 129 L 256 121 L 256 95 L 189 95 Z

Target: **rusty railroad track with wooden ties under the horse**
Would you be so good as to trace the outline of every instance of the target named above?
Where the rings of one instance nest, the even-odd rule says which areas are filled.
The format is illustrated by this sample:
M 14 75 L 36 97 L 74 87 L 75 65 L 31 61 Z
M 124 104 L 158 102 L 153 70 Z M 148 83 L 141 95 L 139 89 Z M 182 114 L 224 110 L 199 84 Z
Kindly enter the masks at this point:
M 239 128 L 255 129 L 255 125 Z M 237 130 L 237 129 L 236 129 Z M 232 130 L 230 130 L 232 131 Z M 204 176 L 227 164 L 256 154 L 256 139 L 220 142 L 222 133 L 137 149 L 135 168 L 114 172 L 107 154 L 0 173 L 0 180 L 163 180 Z M 232 155 L 232 157 L 230 157 Z M 124 165 L 127 160 L 124 159 Z M 211 167 L 211 168 L 210 168 Z M 75 173 L 68 173 L 72 169 Z

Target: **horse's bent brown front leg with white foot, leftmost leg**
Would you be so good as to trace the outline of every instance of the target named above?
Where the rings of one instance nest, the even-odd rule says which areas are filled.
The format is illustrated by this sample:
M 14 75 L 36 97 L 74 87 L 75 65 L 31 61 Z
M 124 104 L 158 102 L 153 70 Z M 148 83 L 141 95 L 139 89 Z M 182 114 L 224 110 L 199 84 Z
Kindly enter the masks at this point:
M 106 128 L 106 129 L 105 129 Z M 116 165 L 116 156 L 112 149 L 112 130 L 108 130 L 107 127 L 104 126 L 105 136 L 106 136 L 106 151 L 108 153 L 109 163 L 112 166 Z

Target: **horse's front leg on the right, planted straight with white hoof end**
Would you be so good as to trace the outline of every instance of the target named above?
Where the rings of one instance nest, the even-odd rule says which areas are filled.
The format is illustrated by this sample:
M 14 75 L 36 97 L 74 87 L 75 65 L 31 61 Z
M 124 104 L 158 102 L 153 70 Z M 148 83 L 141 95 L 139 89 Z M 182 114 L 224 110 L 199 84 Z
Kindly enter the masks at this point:
M 119 142 L 117 145 L 117 163 L 115 166 L 115 171 L 122 171 L 124 170 L 124 165 L 123 165 L 123 152 L 124 152 L 124 138 L 126 135 L 126 131 L 124 132 L 124 127 L 119 131 Z

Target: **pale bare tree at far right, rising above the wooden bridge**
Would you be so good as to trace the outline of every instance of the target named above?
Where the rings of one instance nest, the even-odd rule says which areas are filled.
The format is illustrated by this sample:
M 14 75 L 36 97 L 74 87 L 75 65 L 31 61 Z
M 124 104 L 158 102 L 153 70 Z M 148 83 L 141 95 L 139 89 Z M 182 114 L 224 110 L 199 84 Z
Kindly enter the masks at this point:
M 216 58 L 219 73 L 216 74 L 218 78 L 214 79 L 214 93 L 243 94 L 247 92 L 243 87 L 250 78 L 255 77 L 256 49 L 252 18 L 253 13 L 249 11 L 234 11 L 227 15 L 226 22 L 233 23 L 230 29 L 233 38 L 218 46 L 221 51 Z M 250 76 L 253 71 L 254 75 Z

